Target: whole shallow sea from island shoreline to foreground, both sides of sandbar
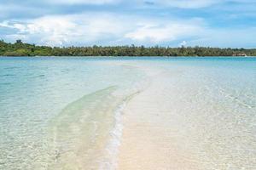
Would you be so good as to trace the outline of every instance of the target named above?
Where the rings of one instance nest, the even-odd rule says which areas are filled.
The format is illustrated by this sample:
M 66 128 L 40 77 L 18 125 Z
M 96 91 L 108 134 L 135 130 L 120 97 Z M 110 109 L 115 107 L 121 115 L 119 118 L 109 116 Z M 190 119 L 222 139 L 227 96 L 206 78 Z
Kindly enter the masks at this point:
M 0 58 L 0 169 L 131 169 L 145 123 L 159 169 L 255 169 L 256 58 Z

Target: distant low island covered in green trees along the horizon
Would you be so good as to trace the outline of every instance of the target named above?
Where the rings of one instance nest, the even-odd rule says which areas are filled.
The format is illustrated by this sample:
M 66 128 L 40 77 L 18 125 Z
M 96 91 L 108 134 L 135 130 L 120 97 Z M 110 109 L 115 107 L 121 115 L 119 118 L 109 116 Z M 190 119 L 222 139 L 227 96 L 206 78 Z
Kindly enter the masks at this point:
M 256 56 L 256 48 L 206 48 L 206 47 L 49 47 L 37 46 L 17 40 L 0 41 L 0 56 Z

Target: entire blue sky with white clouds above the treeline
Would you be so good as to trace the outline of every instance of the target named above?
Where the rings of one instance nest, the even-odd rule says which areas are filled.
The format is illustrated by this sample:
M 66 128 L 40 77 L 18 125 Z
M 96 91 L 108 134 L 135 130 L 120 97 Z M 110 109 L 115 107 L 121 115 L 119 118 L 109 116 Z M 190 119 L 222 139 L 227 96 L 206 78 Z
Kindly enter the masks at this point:
M 0 0 L 0 39 L 256 48 L 256 0 Z

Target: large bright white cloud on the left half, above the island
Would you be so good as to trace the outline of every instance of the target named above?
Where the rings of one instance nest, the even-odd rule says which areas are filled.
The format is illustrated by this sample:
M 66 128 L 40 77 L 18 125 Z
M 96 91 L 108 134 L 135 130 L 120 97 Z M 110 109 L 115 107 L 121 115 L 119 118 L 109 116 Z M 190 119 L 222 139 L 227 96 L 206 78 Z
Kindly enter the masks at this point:
M 20 21 L 19 24 L 3 21 L 1 26 L 14 30 L 15 36 L 9 34 L 6 37 L 17 38 L 17 35 L 20 35 L 24 41 L 51 46 L 112 41 L 125 31 L 125 23 L 113 14 L 44 16 L 35 20 Z M 128 28 L 128 25 L 126 27 Z

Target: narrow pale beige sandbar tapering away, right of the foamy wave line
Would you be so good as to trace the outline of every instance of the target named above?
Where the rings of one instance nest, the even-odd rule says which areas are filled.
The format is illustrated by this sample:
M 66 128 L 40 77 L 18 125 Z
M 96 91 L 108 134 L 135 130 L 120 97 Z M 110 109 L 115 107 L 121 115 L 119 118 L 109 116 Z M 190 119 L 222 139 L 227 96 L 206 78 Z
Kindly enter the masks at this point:
M 172 84 L 168 72 L 150 76 L 150 85 L 126 105 L 118 167 L 128 169 L 201 169 L 185 145 L 181 147 L 172 117 Z M 173 94 L 172 94 L 173 96 Z

